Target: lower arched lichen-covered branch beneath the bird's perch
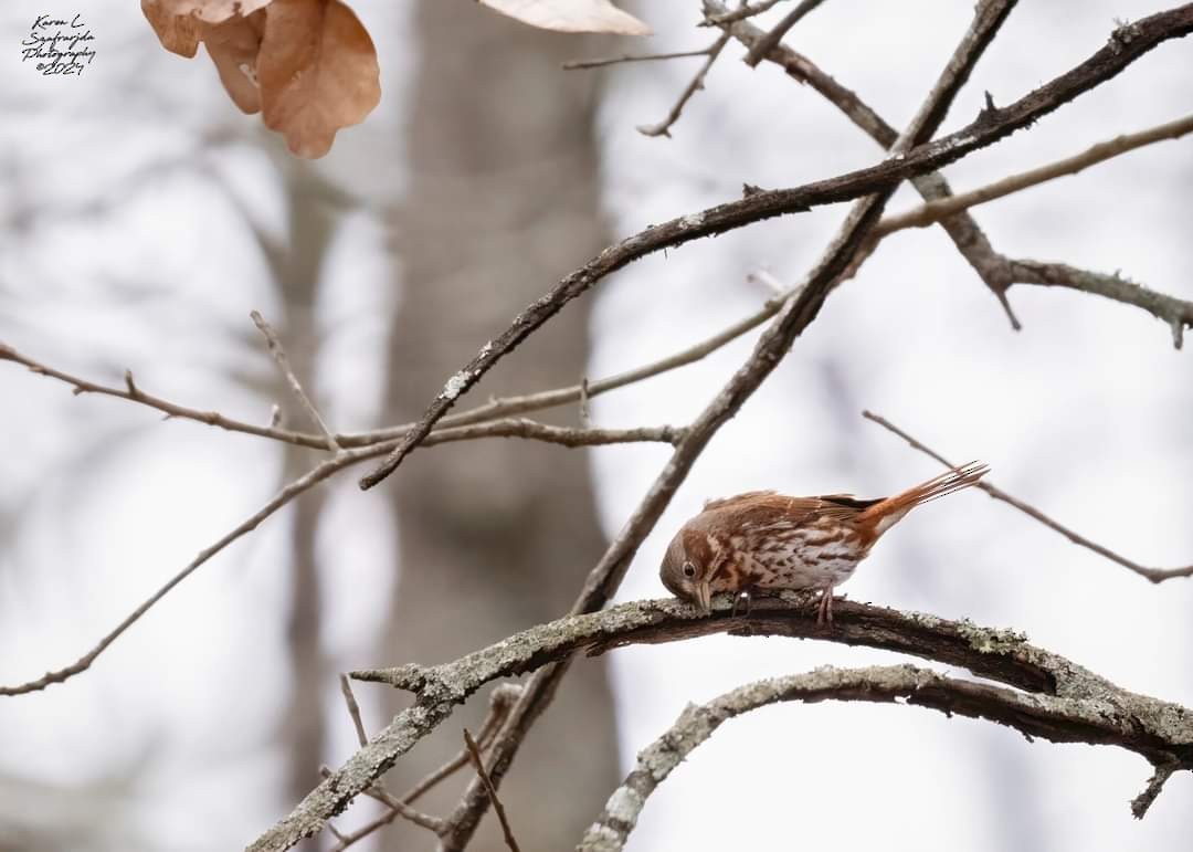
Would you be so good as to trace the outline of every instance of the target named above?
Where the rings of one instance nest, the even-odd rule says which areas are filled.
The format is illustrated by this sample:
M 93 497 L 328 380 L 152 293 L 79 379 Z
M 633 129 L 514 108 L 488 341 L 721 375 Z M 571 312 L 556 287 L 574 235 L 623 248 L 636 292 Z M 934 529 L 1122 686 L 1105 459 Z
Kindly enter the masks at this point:
M 747 684 L 707 704 L 688 704 L 675 724 L 638 753 L 637 765 L 610 796 L 576 848 L 579 852 L 622 850 L 650 794 L 725 720 L 779 702 L 812 704 L 823 700 L 904 703 L 931 708 L 946 716 L 985 718 L 1014 728 L 1027 737 L 1040 736 L 1052 742 L 1106 742 L 1100 708 L 1092 700 L 1028 696 L 915 666 L 824 666 L 806 674 Z M 1118 726 L 1119 734 L 1127 733 L 1125 723 L 1123 720 Z M 1158 795 L 1174 767 L 1174 764 L 1157 767 L 1152 783 L 1141 796 L 1150 795 L 1146 804 Z

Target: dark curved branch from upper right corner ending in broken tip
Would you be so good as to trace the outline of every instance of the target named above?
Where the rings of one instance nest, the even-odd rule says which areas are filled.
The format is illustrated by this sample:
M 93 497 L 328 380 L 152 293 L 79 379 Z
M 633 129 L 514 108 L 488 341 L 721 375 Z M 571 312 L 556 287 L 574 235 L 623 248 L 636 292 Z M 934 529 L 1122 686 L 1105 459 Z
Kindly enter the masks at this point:
M 723 234 L 775 216 L 803 212 L 814 206 L 888 191 L 903 180 L 938 171 L 979 148 L 994 144 L 1109 80 L 1162 42 L 1180 38 L 1189 32 L 1193 32 L 1193 4 L 1119 26 L 1111 33 L 1106 47 L 1081 64 L 1009 106 L 997 109 L 988 105 L 975 122 L 950 136 L 901 152 L 898 156 L 888 158 L 876 166 L 827 180 L 787 190 L 753 192 L 736 202 L 651 226 L 610 246 L 564 277 L 550 292 L 530 304 L 514 317 L 509 328 L 484 344 L 463 369 L 451 376 L 414 430 L 381 465 L 360 480 L 360 487 L 371 488 L 396 470 L 402 459 L 422 442 L 456 400 L 476 384 L 502 357 L 555 316 L 564 304 L 623 266 L 654 252 L 681 246 L 699 237 Z

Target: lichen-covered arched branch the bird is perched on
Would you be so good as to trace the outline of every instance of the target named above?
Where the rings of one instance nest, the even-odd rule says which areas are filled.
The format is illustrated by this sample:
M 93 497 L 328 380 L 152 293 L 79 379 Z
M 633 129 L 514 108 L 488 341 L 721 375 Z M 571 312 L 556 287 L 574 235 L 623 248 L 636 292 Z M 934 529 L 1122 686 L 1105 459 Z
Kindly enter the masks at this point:
M 353 672 L 351 677 L 358 680 L 412 691 L 414 704 L 249 850 L 286 850 L 317 832 L 488 683 L 539 669 L 581 650 L 602 654 L 628 644 L 676 642 L 718 632 L 820 638 L 960 666 L 1031 693 L 1022 700 L 1044 714 L 1040 718 L 1063 709 L 1067 724 L 1073 726 L 1068 730 L 1080 733 L 1082 742 L 1121 746 L 1157 766 L 1175 761 L 1182 768 L 1193 767 L 1193 710 L 1127 692 L 1028 643 L 1020 634 L 849 600 L 834 601 L 833 629 L 826 631 L 816 624 L 812 595 L 791 592 L 755 600 L 749 618 L 733 617 L 731 609 L 733 600 L 724 594 L 713 598 L 713 612 L 707 617 L 673 599 L 639 600 L 538 625 L 440 666 Z M 1046 735 L 1044 730 L 1037 733 Z

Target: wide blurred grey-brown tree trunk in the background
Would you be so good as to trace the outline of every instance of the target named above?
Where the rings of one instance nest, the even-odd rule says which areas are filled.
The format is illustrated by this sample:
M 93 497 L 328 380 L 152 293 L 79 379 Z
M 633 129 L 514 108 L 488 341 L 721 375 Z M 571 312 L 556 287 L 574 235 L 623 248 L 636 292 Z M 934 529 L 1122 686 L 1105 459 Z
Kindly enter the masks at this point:
M 409 130 L 410 184 L 397 233 L 403 290 L 390 348 L 385 421 L 421 413 L 444 379 L 527 302 L 605 245 L 598 205 L 595 78 L 560 63 L 577 37 L 545 33 L 471 4 L 422 2 Z M 536 334 L 476 400 L 577 382 L 587 300 Z M 575 409 L 557 414 L 575 424 Z M 418 451 L 391 481 L 400 576 L 378 662 L 460 656 L 568 609 L 600 557 L 581 451 L 518 440 Z M 487 705 L 474 699 L 475 726 Z M 400 791 L 462 746 L 459 724 L 402 758 Z M 618 778 L 602 663 L 581 662 L 527 740 L 502 799 L 527 850 L 570 848 Z M 446 814 L 460 780 L 420 808 Z M 503 850 L 486 820 L 472 847 Z M 384 848 L 427 848 L 397 821 Z

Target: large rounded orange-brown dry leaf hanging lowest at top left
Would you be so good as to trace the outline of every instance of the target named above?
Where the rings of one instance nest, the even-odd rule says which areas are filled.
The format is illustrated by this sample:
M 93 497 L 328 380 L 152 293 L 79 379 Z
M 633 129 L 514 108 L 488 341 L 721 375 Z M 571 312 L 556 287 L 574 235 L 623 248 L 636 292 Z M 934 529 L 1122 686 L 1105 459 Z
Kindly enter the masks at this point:
M 381 100 L 372 39 L 339 0 L 274 0 L 256 60 L 265 125 L 303 158 L 323 156 L 335 131 Z

